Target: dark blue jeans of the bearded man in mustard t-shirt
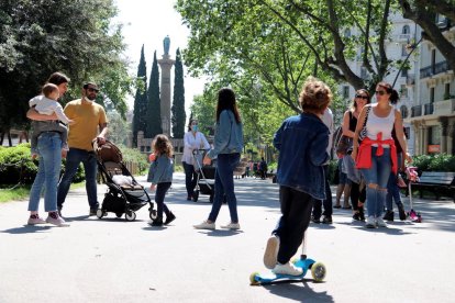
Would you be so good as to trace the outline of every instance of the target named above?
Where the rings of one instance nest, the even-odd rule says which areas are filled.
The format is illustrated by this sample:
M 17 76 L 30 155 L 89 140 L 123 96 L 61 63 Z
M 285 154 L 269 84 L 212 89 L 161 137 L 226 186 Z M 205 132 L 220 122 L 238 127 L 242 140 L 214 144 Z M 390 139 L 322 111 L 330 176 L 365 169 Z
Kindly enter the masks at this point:
M 66 157 L 65 173 L 62 176 L 60 182 L 58 183 L 58 209 L 63 207 L 66 195 L 69 191 L 69 186 L 71 184 L 73 178 L 75 177 L 80 162 L 84 164 L 84 170 L 86 172 L 86 191 L 90 209 L 98 209 L 99 206 L 97 198 L 98 166 L 95 153 L 78 148 L 69 148 Z

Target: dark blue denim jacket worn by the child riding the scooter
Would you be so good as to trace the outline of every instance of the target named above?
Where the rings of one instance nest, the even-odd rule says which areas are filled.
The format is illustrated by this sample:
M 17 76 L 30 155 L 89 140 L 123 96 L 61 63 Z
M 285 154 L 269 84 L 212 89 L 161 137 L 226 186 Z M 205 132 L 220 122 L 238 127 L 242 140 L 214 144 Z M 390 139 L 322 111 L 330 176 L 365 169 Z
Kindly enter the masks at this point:
M 277 182 L 325 199 L 322 165 L 329 160 L 329 128 L 314 114 L 302 113 L 285 120 L 276 132 L 274 146 L 279 150 Z

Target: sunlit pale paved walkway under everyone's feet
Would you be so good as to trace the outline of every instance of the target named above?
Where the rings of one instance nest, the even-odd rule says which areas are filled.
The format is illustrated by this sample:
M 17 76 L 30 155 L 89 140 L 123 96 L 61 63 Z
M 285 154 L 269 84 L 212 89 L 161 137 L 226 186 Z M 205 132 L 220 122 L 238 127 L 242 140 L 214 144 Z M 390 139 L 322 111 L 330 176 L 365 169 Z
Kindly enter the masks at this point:
M 308 255 L 325 263 L 325 282 L 251 287 L 279 217 L 277 186 L 241 179 L 236 192 L 240 232 L 193 229 L 209 197 L 186 201 L 181 173 L 166 198 L 177 220 L 163 228 L 146 224 L 146 207 L 135 222 L 88 217 L 85 189 L 68 195 L 65 228 L 26 226 L 26 201 L 2 203 L 0 302 L 454 302 L 452 201 L 415 200 L 423 223 L 380 229 L 335 210 L 333 225 L 309 229 Z M 228 221 L 223 206 L 217 224 Z

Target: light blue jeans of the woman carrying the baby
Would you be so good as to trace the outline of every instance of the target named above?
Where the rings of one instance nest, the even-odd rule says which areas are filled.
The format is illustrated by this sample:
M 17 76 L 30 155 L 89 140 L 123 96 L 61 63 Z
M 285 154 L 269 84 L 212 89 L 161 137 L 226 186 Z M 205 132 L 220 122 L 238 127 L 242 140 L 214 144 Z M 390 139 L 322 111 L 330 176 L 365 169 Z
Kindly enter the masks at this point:
M 40 166 L 32 189 L 30 190 L 29 211 L 37 212 L 43 187 L 44 210 L 57 210 L 57 183 L 62 166 L 62 138 L 56 132 L 44 132 L 37 138 Z

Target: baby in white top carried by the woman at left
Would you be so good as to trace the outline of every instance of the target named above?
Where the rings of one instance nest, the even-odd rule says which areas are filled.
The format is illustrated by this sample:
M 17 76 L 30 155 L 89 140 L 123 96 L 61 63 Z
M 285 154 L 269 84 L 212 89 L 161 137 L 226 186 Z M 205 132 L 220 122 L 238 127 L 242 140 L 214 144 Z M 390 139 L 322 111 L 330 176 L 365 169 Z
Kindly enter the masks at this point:
M 41 114 L 52 115 L 55 113 L 59 121 L 65 124 L 74 124 L 74 121 L 68 119 L 62 105 L 58 103 L 59 98 L 58 87 L 53 83 L 47 83 L 43 87 L 42 94 L 29 101 L 29 105 L 35 106 L 35 110 Z M 66 157 L 68 150 L 68 128 L 58 121 L 32 121 L 32 158 L 36 158 L 38 152 L 36 149 L 37 138 L 43 132 L 57 132 L 62 137 L 62 156 Z

